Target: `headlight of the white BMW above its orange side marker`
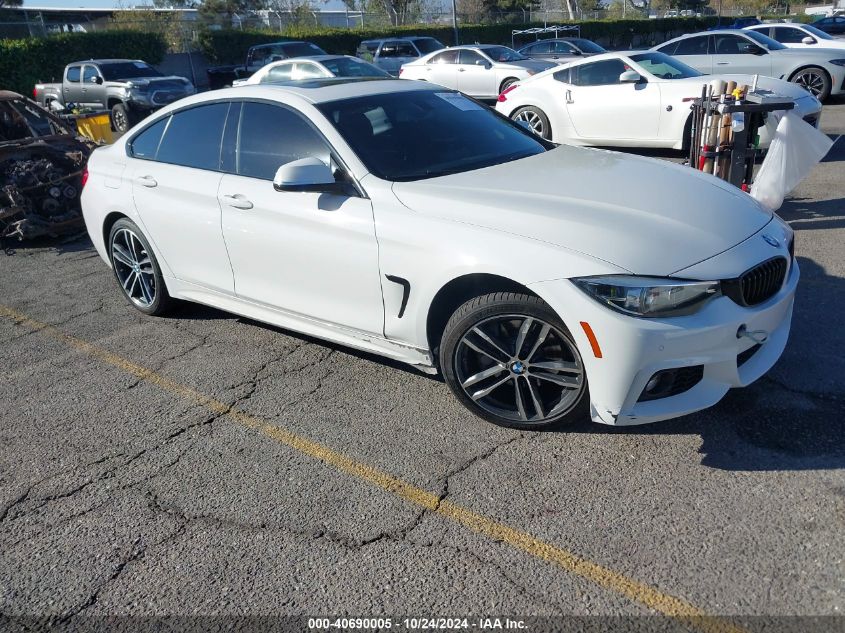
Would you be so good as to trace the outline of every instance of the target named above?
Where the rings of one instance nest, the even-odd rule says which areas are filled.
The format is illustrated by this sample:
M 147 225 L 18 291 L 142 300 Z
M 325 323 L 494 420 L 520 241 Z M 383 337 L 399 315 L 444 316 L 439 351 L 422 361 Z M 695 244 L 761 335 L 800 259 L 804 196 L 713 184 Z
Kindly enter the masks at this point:
M 684 281 L 636 275 L 577 277 L 578 288 L 609 308 L 637 317 L 673 317 L 698 312 L 722 294 L 718 281 Z

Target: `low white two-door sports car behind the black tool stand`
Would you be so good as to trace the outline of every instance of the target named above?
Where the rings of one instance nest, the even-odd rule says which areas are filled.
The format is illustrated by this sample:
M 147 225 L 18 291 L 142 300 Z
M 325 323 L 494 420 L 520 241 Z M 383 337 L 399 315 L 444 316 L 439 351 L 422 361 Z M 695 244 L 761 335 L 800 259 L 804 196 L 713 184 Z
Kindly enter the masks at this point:
M 713 79 L 751 85 L 750 75 L 704 76 L 655 51 L 605 53 L 514 84 L 496 110 L 556 143 L 684 149 L 690 102 Z M 795 112 L 818 125 L 821 102 L 797 84 L 759 77 L 758 90 L 795 101 Z M 760 142 L 769 142 L 765 128 Z

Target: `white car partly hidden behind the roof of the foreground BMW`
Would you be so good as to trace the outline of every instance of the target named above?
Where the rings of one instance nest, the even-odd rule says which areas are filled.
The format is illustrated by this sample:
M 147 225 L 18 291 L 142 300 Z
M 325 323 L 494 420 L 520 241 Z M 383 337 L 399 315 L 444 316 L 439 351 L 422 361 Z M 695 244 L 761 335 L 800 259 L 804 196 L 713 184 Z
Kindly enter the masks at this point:
M 314 55 L 267 64 L 248 79 L 236 79 L 233 86 L 274 81 L 299 81 L 325 77 L 390 77 L 387 71 L 350 55 Z

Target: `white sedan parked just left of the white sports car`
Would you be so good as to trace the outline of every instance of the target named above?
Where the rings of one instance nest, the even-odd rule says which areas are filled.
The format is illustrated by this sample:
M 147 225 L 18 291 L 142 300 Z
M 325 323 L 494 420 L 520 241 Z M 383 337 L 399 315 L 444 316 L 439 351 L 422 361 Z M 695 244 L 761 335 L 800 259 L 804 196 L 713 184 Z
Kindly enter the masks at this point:
M 556 65 L 507 46 L 455 46 L 404 64 L 401 79 L 422 79 L 479 99 L 495 99 L 511 84 Z

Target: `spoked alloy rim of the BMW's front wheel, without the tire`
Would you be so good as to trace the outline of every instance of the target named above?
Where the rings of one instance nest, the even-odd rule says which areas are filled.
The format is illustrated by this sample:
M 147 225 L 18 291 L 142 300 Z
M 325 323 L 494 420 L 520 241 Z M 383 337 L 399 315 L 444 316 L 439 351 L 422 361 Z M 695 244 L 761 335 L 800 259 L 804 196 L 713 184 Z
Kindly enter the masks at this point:
M 558 328 L 507 314 L 476 323 L 455 349 L 455 375 L 479 407 L 523 424 L 571 410 L 585 388 L 581 356 Z

